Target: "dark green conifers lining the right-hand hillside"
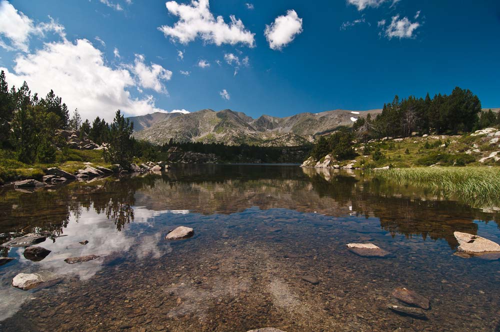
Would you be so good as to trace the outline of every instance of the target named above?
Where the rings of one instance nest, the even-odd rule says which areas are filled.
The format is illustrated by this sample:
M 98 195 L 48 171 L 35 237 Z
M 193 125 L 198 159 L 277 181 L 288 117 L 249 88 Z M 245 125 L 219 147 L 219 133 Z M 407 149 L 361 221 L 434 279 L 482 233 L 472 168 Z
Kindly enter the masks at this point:
M 480 114 L 480 115 L 479 115 Z M 355 156 L 353 141 L 367 142 L 383 137 L 408 137 L 417 134 L 459 134 L 500 125 L 500 112 L 481 112 L 479 98 L 468 89 L 455 87 L 451 94 L 430 98 L 409 96 L 383 105 L 375 118 L 359 117 L 352 128 L 343 128 L 317 139 L 311 156 L 318 160 L 332 153 L 338 160 Z

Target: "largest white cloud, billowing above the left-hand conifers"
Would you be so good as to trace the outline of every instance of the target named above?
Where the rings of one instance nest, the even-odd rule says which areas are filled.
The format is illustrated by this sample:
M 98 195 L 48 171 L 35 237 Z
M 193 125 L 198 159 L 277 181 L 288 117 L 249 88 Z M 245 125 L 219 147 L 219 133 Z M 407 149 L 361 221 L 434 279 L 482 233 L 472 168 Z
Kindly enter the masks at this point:
M 165 111 L 155 106 L 150 95 L 132 97 L 128 88 L 135 87 L 136 81 L 130 71 L 106 65 L 102 52 L 86 39 L 45 43 L 32 54 L 17 55 L 14 62 L 13 72 L 0 68 L 9 85 L 20 86 L 25 80 L 41 96 L 53 89 L 83 118 L 99 116 L 109 121 L 116 109 L 130 116 Z

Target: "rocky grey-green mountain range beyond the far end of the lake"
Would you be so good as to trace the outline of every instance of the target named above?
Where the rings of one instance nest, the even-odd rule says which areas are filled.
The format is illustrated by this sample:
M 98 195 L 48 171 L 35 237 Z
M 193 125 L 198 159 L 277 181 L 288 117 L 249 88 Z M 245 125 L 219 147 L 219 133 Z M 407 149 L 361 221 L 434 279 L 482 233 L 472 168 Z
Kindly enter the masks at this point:
M 335 109 L 320 113 L 299 113 L 276 117 L 261 115 L 254 119 L 245 113 L 223 109 L 196 112 L 153 113 L 130 117 L 134 136 L 152 143 L 174 141 L 217 142 L 228 145 L 298 146 L 310 143 L 314 136 L 351 126 L 358 117 L 381 109 L 354 111 Z

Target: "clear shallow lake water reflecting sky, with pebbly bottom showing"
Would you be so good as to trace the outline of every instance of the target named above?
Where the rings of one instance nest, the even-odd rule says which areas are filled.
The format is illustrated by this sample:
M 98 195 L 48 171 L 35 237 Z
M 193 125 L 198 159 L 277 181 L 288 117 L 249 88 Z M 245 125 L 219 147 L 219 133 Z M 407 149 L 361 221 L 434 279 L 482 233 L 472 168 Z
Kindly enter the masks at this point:
M 16 260 L 0 267 L 0 329 L 495 330 L 500 262 L 453 255 L 455 230 L 500 242 L 489 210 L 359 173 L 297 166 L 191 165 L 35 192 L 3 189 L 0 232 L 53 236 L 38 244 L 52 250 L 39 262 L 22 248 L 2 252 Z M 194 236 L 164 240 L 178 225 Z M 394 256 L 360 257 L 349 242 Z M 84 254 L 102 257 L 63 261 Z M 23 291 L 10 286 L 19 272 L 63 281 Z M 320 282 L 303 281 L 306 274 Z M 399 286 L 430 299 L 428 320 L 386 308 Z

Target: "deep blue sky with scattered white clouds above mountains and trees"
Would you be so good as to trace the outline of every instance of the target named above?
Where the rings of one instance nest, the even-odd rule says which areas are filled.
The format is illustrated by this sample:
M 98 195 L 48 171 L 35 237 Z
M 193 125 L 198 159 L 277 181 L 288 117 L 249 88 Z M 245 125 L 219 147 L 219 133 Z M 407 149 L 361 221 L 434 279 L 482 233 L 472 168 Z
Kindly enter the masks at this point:
M 205 2 L 0 0 L 0 67 L 89 118 L 363 110 L 457 85 L 500 107 L 497 0 Z

